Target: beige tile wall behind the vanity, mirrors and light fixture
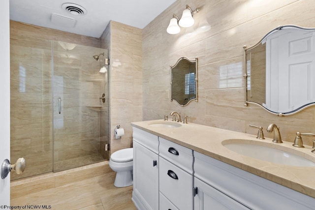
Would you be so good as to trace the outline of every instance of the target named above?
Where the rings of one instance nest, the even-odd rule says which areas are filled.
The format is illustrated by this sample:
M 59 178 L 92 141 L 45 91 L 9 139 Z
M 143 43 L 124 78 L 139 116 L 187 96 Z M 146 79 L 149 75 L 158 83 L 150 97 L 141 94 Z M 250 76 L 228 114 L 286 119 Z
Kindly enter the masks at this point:
M 186 4 L 192 9 L 201 7 L 194 15 L 194 26 L 168 34 L 172 14 L 181 16 Z M 290 142 L 296 131 L 314 133 L 314 107 L 282 118 L 254 105 L 244 107 L 242 78 L 243 45 L 255 44 L 279 25 L 315 27 L 314 13 L 314 0 L 177 0 L 143 29 L 143 120 L 181 111 L 194 123 L 251 134 L 257 130 L 249 124 L 265 129 L 276 123 L 283 140 Z M 199 101 L 183 108 L 165 95 L 170 90 L 169 65 L 182 56 L 199 59 Z M 222 68 L 237 72 L 232 87 L 220 81 Z M 265 136 L 272 135 L 265 131 Z M 312 143 L 310 137 L 303 140 Z

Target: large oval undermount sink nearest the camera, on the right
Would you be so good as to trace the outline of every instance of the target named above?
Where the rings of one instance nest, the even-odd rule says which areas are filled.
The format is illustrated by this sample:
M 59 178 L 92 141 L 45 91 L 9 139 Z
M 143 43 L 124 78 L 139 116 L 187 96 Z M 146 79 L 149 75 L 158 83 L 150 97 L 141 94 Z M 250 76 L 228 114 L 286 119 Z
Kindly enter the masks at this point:
M 261 144 L 261 145 L 259 145 Z M 272 163 L 288 165 L 288 166 L 304 166 L 304 167 L 315 167 L 315 162 L 302 157 L 297 154 L 293 154 L 291 152 L 281 150 L 282 146 L 275 147 L 274 144 L 270 144 L 268 147 L 268 143 L 265 142 L 255 142 L 255 144 L 251 143 L 251 140 L 245 139 L 235 139 L 233 142 L 232 140 L 225 140 L 222 142 L 222 145 L 229 150 L 237 152 L 242 155 L 246 155 L 249 157 L 253 157 L 259 160 L 268 161 Z M 278 149 L 279 148 L 279 149 Z M 289 148 L 284 148 L 289 149 Z M 293 149 L 292 149 L 293 151 Z M 295 151 L 300 153 L 301 155 L 305 156 L 306 153 L 302 151 Z M 310 155 L 310 158 L 313 156 Z

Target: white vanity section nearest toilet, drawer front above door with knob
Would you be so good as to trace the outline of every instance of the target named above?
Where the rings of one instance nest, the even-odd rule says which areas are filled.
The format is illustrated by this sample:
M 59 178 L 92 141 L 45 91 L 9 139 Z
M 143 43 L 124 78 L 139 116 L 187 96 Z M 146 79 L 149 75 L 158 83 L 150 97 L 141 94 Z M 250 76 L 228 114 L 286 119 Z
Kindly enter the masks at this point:
M 158 136 L 133 127 L 133 192 L 138 210 L 158 210 Z

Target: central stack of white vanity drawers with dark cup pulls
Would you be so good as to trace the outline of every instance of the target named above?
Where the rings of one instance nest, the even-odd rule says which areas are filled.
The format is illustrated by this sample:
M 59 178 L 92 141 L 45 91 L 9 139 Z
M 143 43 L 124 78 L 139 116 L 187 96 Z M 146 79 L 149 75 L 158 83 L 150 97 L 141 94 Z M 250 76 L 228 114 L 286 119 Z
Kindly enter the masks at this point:
M 159 192 L 165 196 L 165 199 L 174 204 L 177 209 L 192 210 L 192 150 L 165 140 L 161 137 L 158 137 L 158 139 Z M 164 200 L 160 199 L 160 210 L 164 210 L 161 208 L 162 202 L 164 202 Z

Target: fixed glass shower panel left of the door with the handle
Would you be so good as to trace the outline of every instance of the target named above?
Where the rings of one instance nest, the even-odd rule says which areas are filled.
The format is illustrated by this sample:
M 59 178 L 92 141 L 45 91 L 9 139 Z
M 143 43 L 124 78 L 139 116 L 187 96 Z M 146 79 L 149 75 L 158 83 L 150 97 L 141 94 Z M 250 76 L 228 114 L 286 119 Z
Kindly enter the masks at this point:
M 10 34 L 10 159 L 27 160 L 11 180 L 53 171 L 52 41 Z

